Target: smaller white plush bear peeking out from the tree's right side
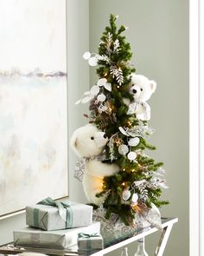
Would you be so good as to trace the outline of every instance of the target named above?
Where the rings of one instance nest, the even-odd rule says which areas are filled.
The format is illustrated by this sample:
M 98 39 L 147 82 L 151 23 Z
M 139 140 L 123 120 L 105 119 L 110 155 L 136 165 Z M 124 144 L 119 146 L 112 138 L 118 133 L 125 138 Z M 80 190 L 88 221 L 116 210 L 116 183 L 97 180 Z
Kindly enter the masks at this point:
M 130 93 L 134 101 L 124 99 L 129 106 L 128 115 L 136 114 L 139 120 L 150 120 L 150 105 L 147 101 L 156 90 L 156 82 L 149 80 L 144 75 L 131 74 Z

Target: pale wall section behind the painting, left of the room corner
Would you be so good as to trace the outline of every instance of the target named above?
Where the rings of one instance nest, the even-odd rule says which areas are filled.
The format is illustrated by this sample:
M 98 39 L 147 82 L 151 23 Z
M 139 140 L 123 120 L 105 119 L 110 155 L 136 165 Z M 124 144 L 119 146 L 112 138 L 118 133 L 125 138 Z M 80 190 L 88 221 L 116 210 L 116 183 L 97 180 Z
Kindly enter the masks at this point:
M 68 135 L 85 122 L 82 116 L 85 109 L 74 106 L 74 102 L 89 87 L 89 68 L 82 59 L 83 52 L 89 48 L 88 14 L 88 0 L 67 0 Z M 70 151 L 69 194 L 71 200 L 83 201 L 85 197 L 80 181 L 73 179 L 75 161 L 75 156 Z M 12 241 L 13 230 L 23 226 L 25 226 L 24 213 L 0 220 L 0 245 Z

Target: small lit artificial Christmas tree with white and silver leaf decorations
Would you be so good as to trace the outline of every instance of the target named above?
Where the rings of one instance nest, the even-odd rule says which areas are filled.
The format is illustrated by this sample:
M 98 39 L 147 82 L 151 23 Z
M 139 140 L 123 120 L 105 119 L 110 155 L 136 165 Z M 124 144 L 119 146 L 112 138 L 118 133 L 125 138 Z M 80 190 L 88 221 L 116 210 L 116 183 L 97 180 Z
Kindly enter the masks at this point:
M 146 149 L 156 149 L 146 141 L 153 129 L 147 124 L 150 118 L 138 117 L 141 115 L 137 115 L 136 109 L 148 112 L 150 106 L 137 102 L 134 95 L 138 85 L 131 81 L 136 71 L 130 62 L 131 46 L 122 36 L 127 28 L 122 25 L 117 29 L 117 18 L 110 16 L 110 26 L 105 28 L 99 43 L 99 54 L 84 54 L 91 66 L 99 65 L 99 81 L 76 103 L 90 102 L 90 115 L 86 117 L 108 137 L 103 162 L 119 167 L 117 174 L 104 177 L 102 190 L 97 194 L 105 198 L 105 218 L 116 213 L 125 225 L 131 225 L 136 213 L 144 216 L 152 207 L 168 202 L 159 200 L 161 187 L 166 187 L 158 177 L 163 174 L 163 163 L 144 153 Z M 132 83 L 136 88 L 131 89 Z

